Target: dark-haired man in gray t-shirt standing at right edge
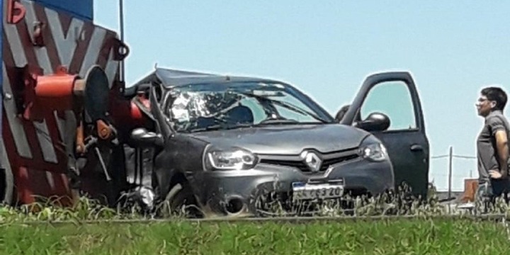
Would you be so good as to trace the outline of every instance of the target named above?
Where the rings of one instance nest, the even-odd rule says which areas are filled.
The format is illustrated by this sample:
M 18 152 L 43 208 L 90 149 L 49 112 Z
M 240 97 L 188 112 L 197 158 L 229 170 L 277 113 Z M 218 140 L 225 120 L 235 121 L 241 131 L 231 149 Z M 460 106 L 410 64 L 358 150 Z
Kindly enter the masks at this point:
M 480 91 L 476 103 L 478 115 L 485 124 L 477 138 L 479 188 L 477 198 L 488 199 L 505 195 L 510 191 L 509 143 L 510 125 L 503 111 L 506 93 L 499 87 L 490 86 Z M 506 199 L 508 202 L 508 199 Z

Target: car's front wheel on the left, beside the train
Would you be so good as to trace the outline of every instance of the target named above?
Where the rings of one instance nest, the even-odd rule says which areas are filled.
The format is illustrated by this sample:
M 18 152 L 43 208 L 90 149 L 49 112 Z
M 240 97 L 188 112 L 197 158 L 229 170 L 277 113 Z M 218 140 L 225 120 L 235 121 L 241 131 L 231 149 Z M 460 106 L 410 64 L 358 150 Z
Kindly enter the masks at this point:
M 188 183 L 177 183 L 170 189 L 162 203 L 162 216 L 203 217 L 200 206 Z

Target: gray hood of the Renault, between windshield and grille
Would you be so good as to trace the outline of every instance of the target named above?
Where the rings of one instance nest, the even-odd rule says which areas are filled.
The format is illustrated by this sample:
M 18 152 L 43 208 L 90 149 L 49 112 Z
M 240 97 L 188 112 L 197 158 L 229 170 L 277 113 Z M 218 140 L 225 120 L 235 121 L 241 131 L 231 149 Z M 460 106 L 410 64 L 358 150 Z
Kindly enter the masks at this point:
M 303 149 L 335 152 L 358 147 L 368 132 L 346 125 L 280 125 L 190 134 L 221 148 L 249 149 L 256 154 L 300 154 Z

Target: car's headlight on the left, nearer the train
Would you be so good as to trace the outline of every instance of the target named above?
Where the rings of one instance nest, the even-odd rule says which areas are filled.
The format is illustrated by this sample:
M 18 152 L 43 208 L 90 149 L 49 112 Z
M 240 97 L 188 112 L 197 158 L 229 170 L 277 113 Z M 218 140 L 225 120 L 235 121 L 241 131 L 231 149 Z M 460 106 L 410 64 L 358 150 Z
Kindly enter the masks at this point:
M 213 170 L 245 170 L 257 163 L 255 154 L 239 148 L 211 149 L 206 152 L 206 168 Z

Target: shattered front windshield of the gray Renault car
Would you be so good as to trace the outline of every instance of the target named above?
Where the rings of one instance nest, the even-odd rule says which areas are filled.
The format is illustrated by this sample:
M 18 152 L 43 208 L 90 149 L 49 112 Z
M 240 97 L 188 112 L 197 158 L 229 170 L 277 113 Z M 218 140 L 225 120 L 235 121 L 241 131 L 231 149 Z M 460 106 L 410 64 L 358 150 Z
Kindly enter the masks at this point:
M 193 84 L 174 89 L 163 110 L 177 132 L 329 123 L 295 95 L 290 86 L 269 82 Z

